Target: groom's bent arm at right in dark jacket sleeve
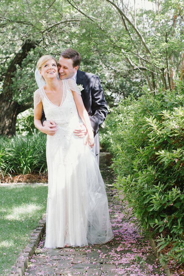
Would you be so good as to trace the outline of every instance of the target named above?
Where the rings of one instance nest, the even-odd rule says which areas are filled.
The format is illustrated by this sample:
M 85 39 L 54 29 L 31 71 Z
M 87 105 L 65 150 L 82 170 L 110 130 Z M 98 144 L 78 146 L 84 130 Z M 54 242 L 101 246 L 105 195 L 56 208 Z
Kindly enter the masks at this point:
M 105 120 L 108 109 L 105 101 L 104 91 L 100 83 L 99 76 L 95 76 L 93 90 L 91 91 L 91 109 L 93 115 L 90 117 L 91 126 L 94 129 L 94 135 L 97 134 L 100 125 Z

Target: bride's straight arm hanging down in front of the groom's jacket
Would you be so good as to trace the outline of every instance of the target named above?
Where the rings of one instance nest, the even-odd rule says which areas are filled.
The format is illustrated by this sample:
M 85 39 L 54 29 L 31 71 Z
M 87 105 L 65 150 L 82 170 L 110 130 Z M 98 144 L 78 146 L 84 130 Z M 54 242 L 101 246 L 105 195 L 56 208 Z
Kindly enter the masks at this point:
M 86 108 L 84 107 L 81 95 L 79 95 L 76 91 L 72 91 L 72 93 L 79 116 L 81 117 L 82 122 L 84 122 L 87 128 L 87 138 L 85 145 L 88 144 L 92 148 L 94 146 L 94 134 L 91 127 L 89 115 L 86 111 Z

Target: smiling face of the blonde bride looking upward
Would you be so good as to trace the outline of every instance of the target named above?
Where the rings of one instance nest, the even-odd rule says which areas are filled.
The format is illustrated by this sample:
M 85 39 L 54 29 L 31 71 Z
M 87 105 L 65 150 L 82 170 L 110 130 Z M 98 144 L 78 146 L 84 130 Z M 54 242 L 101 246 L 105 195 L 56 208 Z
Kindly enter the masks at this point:
M 58 74 L 56 61 L 53 59 L 46 61 L 41 67 L 40 74 L 45 80 L 56 78 Z

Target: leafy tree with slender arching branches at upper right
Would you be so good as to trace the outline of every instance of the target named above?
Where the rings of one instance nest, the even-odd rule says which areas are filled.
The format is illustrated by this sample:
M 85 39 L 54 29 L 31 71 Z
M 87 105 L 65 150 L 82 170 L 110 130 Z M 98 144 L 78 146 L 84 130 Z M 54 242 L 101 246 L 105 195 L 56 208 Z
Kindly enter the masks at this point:
M 67 2 L 81 13 L 88 10 L 84 2 Z M 116 60 L 122 60 L 124 65 L 125 61 L 128 62 L 132 71 L 139 71 L 146 78 L 151 91 L 159 85 L 173 89 L 174 78 L 181 76 L 183 0 L 161 3 L 151 0 L 149 9 L 142 6 L 138 10 L 135 5 L 128 6 L 128 3 L 126 0 L 101 1 L 94 12 L 97 14 L 101 9 L 99 14 L 103 17 L 96 16 L 98 21 L 94 22 L 86 19 L 80 24 L 82 47 L 98 51 L 100 48 L 113 54 Z

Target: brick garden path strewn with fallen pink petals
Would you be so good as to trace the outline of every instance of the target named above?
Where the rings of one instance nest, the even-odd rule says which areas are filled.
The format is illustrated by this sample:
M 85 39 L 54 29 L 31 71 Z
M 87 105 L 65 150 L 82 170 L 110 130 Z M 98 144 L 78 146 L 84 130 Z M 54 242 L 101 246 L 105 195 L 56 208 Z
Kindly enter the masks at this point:
M 25 275 L 166 275 L 149 241 L 141 235 L 132 220 L 124 218 L 124 207 L 116 198 L 117 191 L 113 189 L 108 159 L 109 154 L 101 154 L 100 169 L 106 185 L 114 239 L 105 245 L 46 249 L 44 235 Z

